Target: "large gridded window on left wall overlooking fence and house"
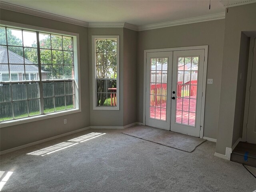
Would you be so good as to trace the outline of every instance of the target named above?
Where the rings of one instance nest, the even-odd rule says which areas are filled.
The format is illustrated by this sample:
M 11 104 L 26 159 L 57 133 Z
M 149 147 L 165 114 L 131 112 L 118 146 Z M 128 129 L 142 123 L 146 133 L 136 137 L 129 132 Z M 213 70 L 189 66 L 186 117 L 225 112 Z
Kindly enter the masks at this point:
M 0 26 L 0 122 L 79 108 L 76 41 Z

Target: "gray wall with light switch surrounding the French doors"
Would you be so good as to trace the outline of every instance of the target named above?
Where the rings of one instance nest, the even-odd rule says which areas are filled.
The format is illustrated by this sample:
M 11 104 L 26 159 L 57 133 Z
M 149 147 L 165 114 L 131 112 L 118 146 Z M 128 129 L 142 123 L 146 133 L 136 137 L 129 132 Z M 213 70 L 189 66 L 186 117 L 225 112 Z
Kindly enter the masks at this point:
M 143 121 L 144 50 L 209 45 L 207 78 L 212 78 L 213 84 L 206 85 L 204 136 L 216 138 L 224 41 L 224 22 L 225 20 L 214 20 L 209 22 L 146 30 L 138 33 L 138 122 Z

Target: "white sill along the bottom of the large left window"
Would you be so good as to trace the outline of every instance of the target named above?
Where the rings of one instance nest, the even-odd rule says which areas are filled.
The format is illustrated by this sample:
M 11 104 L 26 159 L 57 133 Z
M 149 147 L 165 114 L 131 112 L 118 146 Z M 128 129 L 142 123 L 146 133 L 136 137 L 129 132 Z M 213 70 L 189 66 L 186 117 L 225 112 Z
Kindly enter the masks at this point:
M 55 113 L 49 113 L 49 114 L 43 114 L 43 115 L 38 115 L 38 116 L 26 117 L 26 118 L 22 118 L 22 119 L 15 119 L 15 120 L 10 120 L 10 121 L 0 122 L 0 128 L 19 125 L 19 124 L 33 122 L 33 121 L 44 120 L 44 119 L 48 119 L 48 118 L 68 115 L 68 114 L 77 113 L 77 112 L 81 112 L 81 110 L 80 109 L 70 109 L 70 110 L 66 110 L 66 111 L 59 111 L 59 112 L 55 112 Z

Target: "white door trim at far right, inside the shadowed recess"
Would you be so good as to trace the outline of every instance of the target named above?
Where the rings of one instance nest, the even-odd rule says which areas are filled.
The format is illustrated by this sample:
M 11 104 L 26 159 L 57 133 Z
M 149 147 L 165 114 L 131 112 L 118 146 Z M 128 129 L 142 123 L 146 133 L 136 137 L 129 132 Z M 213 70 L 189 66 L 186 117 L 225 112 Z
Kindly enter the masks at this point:
M 253 50 L 254 50 L 254 46 L 255 46 L 254 45 L 255 38 L 256 37 L 251 37 L 251 39 L 250 39 L 247 80 L 246 80 L 246 92 L 245 92 L 245 102 L 244 102 L 244 122 L 243 122 L 242 142 L 246 142 L 249 101 L 250 101 L 250 86 L 251 86 L 251 80 L 252 80 L 252 62 L 253 62 L 253 54 L 254 54 Z

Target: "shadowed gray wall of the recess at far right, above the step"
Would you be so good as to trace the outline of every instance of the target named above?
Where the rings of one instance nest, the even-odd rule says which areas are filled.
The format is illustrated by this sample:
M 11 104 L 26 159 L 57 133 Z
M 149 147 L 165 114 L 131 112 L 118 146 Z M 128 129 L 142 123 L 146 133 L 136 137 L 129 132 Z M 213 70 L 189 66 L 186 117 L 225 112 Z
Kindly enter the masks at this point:
M 240 42 L 239 62 L 238 62 L 236 107 L 235 107 L 232 146 L 238 140 L 238 138 L 242 138 L 249 47 L 250 47 L 250 38 L 248 38 L 242 32 L 241 42 Z

